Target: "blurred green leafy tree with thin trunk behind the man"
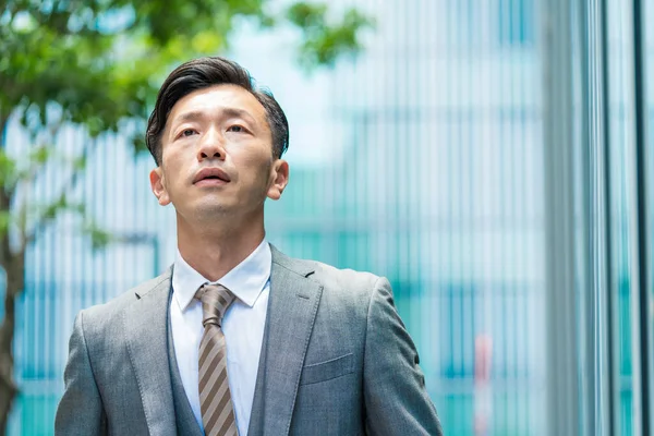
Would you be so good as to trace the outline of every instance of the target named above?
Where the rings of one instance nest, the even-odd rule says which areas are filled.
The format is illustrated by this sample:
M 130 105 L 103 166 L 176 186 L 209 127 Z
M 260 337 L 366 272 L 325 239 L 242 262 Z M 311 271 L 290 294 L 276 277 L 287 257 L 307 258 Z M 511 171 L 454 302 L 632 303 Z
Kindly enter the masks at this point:
M 64 125 L 90 137 L 117 132 L 124 120 L 141 125 L 170 69 L 228 46 L 241 20 L 262 27 L 291 25 L 301 34 L 299 62 L 329 65 L 360 49 L 370 21 L 355 10 L 338 16 L 323 4 L 296 2 L 270 12 L 265 0 L 4 0 L 0 1 L 0 266 L 7 274 L 0 325 L 0 435 L 17 393 L 12 343 L 15 300 L 25 284 L 26 249 L 39 229 L 63 211 L 88 222 L 94 244 L 108 234 L 93 225 L 71 192 L 94 141 L 76 156 L 51 146 Z M 29 141 L 8 144 L 7 126 L 20 119 Z M 132 141 L 144 149 L 143 132 Z M 13 150 L 13 152 L 12 152 Z M 17 152 L 16 152 L 17 150 Z M 40 169 L 57 160 L 68 177 L 53 201 L 29 196 Z

